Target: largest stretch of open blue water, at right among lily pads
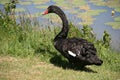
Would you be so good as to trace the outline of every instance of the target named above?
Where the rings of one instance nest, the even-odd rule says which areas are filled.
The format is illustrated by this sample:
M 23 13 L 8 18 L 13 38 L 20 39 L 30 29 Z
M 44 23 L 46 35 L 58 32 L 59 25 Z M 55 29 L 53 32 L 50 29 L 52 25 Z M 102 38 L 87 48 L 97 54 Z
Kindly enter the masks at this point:
M 112 48 L 115 50 L 119 50 L 120 49 L 120 29 L 116 30 L 108 25 L 105 25 L 106 22 L 114 22 L 114 19 L 111 16 L 111 11 L 113 10 L 113 8 L 109 8 L 107 6 L 95 6 L 92 3 L 90 3 L 89 0 L 88 0 L 88 5 L 90 5 L 91 9 L 93 10 L 97 10 L 97 9 L 107 10 L 106 12 L 101 13 L 98 16 L 95 16 L 96 20 L 93 22 L 91 27 L 93 27 L 95 33 L 97 34 L 98 39 L 101 39 L 101 37 L 103 36 L 104 30 L 108 31 L 112 37 L 112 42 L 111 42 Z M 114 17 L 117 17 L 117 16 L 120 16 L 119 12 L 115 12 Z

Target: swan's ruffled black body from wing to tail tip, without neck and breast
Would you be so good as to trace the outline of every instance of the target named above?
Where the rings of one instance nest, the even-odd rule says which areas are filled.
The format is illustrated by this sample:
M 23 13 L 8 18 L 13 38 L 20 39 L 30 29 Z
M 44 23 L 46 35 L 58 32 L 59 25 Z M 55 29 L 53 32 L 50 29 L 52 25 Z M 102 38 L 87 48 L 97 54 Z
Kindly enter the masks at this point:
M 96 55 L 97 51 L 94 45 L 84 39 L 67 39 L 62 45 L 62 54 L 70 62 L 80 63 L 82 65 L 102 64 L 102 60 Z

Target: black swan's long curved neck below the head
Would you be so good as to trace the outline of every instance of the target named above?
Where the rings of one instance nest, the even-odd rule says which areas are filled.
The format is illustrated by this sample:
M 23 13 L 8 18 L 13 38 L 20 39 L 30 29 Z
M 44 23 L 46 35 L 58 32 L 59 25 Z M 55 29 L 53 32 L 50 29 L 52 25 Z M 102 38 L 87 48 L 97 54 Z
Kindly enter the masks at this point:
M 58 14 L 58 16 L 61 18 L 63 27 L 62 27 L 62 30 L 58 33 L 58 35 L 55 37 L 54 41 L 57 41 L 60 39 L 66 39 L 68 31 L 69 31 L 68 20 L 65 16 L 64 12 L 56 12 L 56 14 Z

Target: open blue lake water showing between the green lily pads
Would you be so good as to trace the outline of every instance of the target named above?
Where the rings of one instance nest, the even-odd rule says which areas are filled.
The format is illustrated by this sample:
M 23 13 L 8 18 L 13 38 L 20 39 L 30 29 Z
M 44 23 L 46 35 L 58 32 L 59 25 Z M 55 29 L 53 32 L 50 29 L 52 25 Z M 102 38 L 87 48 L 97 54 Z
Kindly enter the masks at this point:
M 26 0 L 21 0 L 21 1 L 26 1 Z M 38 9 L 35 6 L 49 6 L 49 5 L 56 4 L 53 0 L 50 0 L 49 2 L 46 2 L 44 4 L 34 4 L 32 1 L 28 1 L 28 2 L 31 2 L 31 4 L 28 4 L 28 5 L 17 4 L 17 8 L 23 8 L 29 11 L 30 14 L 35 14 L 35 13 L 43 12 L 45 10 L 42 8 Z M 112 42 L 111 42 L 112 48 L 115 50 L 119 50 L 120 49 L 120 29 L 115 30 L 112 27 L 105 25 L 106 22 L 114 22 L 114 19 L 111 16 L 112 8 L 109 8 L 107 6 L 96 6 L 93 3 L 91 3 L 89 0 L 86 0 L 86 2 L 90 7 L 90 9 L 92 10 L 98 10 L 98 9 L 106 10 L 106 12 L 100 13 L 97 16 L 93 16 L 95 20 L 93 21 L 93 24 L 91 25 L 91 27 L 93 28 L 98 39 L 102 39 L 104 30 L 108 31 L 112 37 Z M 0 8 L 3 8 L 3 5 L 0 5 Z M 78 8 L 74 8 L 74 9 L 79 10 Z M 79 12 L 81 11 L 79 10 Z M 71 14 L 71 10 L 64 10 L 64 12 L 67 15 L 69 21 L 73 22 L 73 24 L 77 25 L 78 27 L 81 27 L 81 25 L 79 24 L 81 22 L 81 19 L 78 18 L 75 14 Z M 115 17 L 117 16 L 120 16 L 119 12 L 115 13 Z M 51 25 L 50 21 L 48 19 L 45 19 L 42 16 L 39 16 L 38 20 L 41 22 L 40 23 L 41 25 L 44 25 L 44 26 Z M 57 26 L 57 24 L 53 22 L 52 26 Z

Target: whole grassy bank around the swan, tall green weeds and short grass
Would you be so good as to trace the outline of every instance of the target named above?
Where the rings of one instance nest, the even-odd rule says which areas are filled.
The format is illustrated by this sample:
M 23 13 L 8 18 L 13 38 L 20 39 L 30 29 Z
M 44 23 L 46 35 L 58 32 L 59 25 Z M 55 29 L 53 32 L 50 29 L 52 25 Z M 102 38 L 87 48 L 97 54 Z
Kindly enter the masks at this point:
M 53 39 L 60 27 L 43 28 L 37 19 L 26 19 L 25 14 L 19 16 L 20 22 L 16 23 L 14 17 L 0 14 L 0 80 L 120 79 L 120 53 L 106 48 L 95 35 L 83 34 L 83 29 L 69 24 L 68 37 L 83 37 L 94 42 L 104 61 L 100 67 L 79 69 L 70 66 L 53 47 Z

